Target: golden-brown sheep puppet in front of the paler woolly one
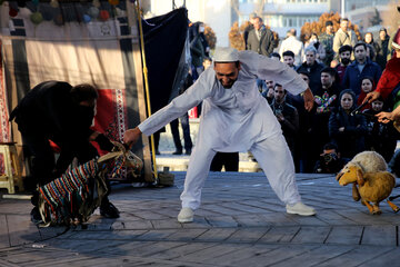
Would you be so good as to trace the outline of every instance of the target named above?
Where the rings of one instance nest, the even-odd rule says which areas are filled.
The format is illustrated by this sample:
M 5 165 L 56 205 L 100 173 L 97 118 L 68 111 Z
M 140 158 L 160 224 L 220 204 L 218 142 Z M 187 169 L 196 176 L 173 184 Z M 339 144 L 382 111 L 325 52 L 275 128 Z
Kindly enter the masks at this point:
M 361 199 L 372 215 L 380 215 L 379 202 L 387 199 L 394 185 L 396 179 L 389 171 L 363 172 L 357 165 L 346 166 L 338 175 L 337 180 L 340 186 L 353 184 L 352 197 L 356 201 Z M 394 212 L 400 208 L 387 200 Z M 372 206 L 371 204 L 372 202 Z

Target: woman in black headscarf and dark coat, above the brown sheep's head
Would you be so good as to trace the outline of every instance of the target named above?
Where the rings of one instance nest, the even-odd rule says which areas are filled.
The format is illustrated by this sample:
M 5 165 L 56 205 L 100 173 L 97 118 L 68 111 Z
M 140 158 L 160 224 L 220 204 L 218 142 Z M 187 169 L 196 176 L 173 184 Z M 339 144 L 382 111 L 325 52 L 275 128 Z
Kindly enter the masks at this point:
M 353 115 L 356 95 L 351 89 L 346 89 L 339 96 L 340 107 L 329 118 L 329 137 L 332 139 L 342 157 L 353 158 L 364 150 L 364 135 L 367 132 L 366 117 Z

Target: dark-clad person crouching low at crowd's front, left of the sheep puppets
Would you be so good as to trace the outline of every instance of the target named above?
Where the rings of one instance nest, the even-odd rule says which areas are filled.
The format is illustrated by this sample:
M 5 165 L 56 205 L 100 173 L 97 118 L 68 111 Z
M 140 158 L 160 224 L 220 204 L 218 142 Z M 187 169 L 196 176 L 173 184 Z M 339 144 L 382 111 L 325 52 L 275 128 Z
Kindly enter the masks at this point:
M 323 152 L 320 159 L 317 160 L 314 171 L 317 174 L 337 174 L 339 172 L 350 159 L 341 158 L 338 147 L 328 142 L 323 146 Z

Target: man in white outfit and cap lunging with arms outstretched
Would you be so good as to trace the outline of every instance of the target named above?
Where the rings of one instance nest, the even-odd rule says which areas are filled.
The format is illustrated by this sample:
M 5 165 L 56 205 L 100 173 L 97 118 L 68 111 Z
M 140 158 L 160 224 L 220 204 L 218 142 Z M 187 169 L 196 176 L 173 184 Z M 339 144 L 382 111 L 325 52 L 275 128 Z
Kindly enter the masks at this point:
M 252 51 L 218 48 L 213 61 L 214 67 L 204 70 L 184 93 L 134 129 L 127 130 L 123 141 L 133 145 L 142 132 L 147 136 L 156 132 L 203 101 L 198 140 L 190 157 L 178 221 L 193 220 L 193 210 L 200 206 L 201 189 L 217 151 L 250 150 L 274 192 L 287 204 L 287 212 L 314 215 L 313 208 L 301 202 L 290 150 L 256 81 L 273 80 L 291 93 L 304 92 L 308 110 L 313 106 L 311 90 L 286 63 Z

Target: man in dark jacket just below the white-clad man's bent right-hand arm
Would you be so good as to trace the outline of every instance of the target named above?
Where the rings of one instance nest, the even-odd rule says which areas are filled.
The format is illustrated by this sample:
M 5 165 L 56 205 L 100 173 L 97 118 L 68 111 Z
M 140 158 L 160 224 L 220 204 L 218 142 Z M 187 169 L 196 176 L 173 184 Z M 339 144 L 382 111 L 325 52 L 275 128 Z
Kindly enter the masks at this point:
M 273 88 L 273 100 L 271 109 L 281 125 L 286 141 L 290 152 L 294 156 L 294 140 L 299 131 L 299 112 L 297 108 L 286 101 L 287 90 L 279 83 Z

